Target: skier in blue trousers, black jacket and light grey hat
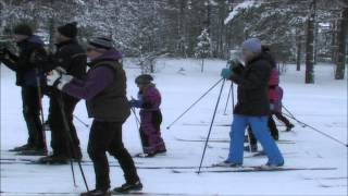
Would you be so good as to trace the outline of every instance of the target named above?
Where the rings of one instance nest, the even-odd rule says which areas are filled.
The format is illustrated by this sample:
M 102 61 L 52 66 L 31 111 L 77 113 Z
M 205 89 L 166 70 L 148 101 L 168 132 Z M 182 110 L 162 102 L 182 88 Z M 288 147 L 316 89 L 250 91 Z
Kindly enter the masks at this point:
M 268 82 L 271 64 L 262 56 L 261 41 L 257 38 L 248 39 L 243 44 L 243 57 L 245 66 L 234 63 L 233 68 L 223 69 L 221 73 L 224 78 L 238 85 L 238 101 L 234 109 L 229 155 L 219 166 L 240 167 L 243 164 L 244 134 L 246 127 L 250 125 L 269 158 L 263 167 L 282 167 L 284 158 L 272 139 L 268 126 L 270 113 Z

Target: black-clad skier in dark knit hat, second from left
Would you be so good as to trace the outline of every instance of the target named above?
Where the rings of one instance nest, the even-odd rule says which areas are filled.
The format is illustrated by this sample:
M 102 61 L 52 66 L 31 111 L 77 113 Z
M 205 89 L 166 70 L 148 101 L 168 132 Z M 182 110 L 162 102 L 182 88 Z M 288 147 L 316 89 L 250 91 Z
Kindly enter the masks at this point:
M 86 75 L 87 57 L 85 50 L 76 40 L 77 27 L 76 23 L 69 23 L 58 27 L 55 33 L 57 52 L 51 54 L 47 64 L 51 64 L 51 69 L 63 68 L 67 74 L 76 78 L 83 78 Z M 51 130 L 51 147 L 53 155 L 42 157 L 38 160 L 39 163 L 67 163 L 70 159 L 82 159 L 79 148 L 79 140 L 76 128 L 73 123 L 73 112 L 78 98 L 61 93 L 57 89 L 50 90 L 50 108 L 49 108 L 49 127 Z M 73 139 L 70 144 L 66 130 L 64 128 L 64 121 L 60 102 L 64 105 L 65 117 L 67 118 L 69 132 Z

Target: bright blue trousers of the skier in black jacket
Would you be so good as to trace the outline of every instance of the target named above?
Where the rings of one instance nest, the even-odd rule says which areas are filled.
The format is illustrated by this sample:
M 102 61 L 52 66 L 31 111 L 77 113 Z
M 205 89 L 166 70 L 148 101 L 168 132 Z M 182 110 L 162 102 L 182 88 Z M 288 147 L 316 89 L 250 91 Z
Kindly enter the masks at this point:
M 232 130 L 229 133 L 231 144 L 229 144 L 229 155 L 226 161 L 232 163 L 243 164 L 243 154 L 244 154 L 244 138 L 245 131 L 248 125 L 251 126 L 252 133 L 256 138 L 262 145 L 264 152 L 269 158 L 271 164 L 283 164 L 284 158 L 275 144 L 274 139 L 271 137 L 269 126 L 269 117 L 248 117 L 235 114 L 233 119 Z

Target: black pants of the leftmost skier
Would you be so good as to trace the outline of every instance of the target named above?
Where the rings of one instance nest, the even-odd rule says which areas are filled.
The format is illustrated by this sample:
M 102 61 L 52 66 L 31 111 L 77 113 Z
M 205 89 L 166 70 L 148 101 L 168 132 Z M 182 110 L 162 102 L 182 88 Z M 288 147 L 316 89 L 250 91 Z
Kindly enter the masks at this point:
M 40 120 L 40 99 L 37 87 L 22 87 L 23 117 L 28 130 L 29 146 L 44 149 L 42 122 Z

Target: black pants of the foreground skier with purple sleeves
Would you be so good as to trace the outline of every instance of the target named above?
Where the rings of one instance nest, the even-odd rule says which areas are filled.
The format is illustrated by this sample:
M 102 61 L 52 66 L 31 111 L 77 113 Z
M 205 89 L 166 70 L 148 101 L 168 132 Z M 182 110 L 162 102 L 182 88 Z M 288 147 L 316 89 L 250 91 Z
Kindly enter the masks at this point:
M 105 152 L 117 159 L 126 182 L 139 181 L 134 161 L 122 143 L 121 122 L 94 121 L 89 133 L 88 155 L 94 162 L 96 188 L 110 188 L 109 161 Z

